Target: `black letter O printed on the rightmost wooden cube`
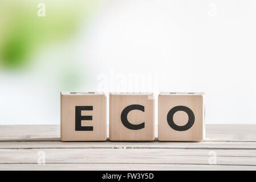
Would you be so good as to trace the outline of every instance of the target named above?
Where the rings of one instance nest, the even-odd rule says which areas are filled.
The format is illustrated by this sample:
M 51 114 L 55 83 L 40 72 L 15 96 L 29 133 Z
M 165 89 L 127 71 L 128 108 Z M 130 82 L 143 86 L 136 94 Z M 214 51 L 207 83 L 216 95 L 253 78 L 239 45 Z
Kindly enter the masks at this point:
M 186 125 L 184 126 L 178 126 L 174 123 L 173 121 L 173 115 L 177 112 L 177 111 L 184 111 L 186 114 L 188 114 L 189 117 L 189 121 L 188 123 L 186 123 Z M 190 127 L 192 127 L 194 125 L 194 113 L 191 109 L 189 109 L 189 107 L 186 106 L 176 106 L 173 107 L 171 110 L 169 110 L 168 114 L 167 114 L 167 122 L 169 124 L 169 126 L 176 131 L 186 131 L 188 129 L 190 129 Z

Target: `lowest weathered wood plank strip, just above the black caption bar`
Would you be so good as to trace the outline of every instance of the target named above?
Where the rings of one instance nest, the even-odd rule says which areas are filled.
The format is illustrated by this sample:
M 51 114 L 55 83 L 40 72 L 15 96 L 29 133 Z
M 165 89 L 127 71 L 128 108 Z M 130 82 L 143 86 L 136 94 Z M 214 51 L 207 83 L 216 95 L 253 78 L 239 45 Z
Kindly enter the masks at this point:
M 194 165 L 194 164 L 0 164 L 1 170 L 157 170 L 157 171 L 176 171 L 176 170 L 256 170 L 255 166 L 225 166 L 225 165 Z

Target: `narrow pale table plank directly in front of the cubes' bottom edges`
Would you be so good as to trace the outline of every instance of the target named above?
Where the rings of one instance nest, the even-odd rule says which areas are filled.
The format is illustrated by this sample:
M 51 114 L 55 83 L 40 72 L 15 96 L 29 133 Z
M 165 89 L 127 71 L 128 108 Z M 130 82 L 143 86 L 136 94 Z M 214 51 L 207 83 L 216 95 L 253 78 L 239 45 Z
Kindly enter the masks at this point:
M 256 142 L 0 142 L 0 148 L 180 148 L 256 150 Z

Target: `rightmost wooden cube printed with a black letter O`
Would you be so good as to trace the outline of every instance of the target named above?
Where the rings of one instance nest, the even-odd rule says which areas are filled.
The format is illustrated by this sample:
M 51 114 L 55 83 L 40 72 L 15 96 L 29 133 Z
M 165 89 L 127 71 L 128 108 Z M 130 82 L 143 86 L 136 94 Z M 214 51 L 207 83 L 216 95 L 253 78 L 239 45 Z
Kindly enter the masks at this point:
M 205 138 L 204 93 L 159 94 L 159 140 L 202 141 Z

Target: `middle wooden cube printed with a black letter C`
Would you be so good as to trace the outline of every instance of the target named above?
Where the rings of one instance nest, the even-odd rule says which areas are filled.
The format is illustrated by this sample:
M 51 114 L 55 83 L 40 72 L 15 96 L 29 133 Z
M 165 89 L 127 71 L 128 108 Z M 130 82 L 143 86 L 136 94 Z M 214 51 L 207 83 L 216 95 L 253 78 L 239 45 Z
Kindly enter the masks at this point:
M 153 93 L 109 94 L 109 140 L 155 140 Z

